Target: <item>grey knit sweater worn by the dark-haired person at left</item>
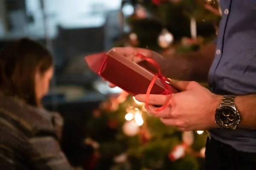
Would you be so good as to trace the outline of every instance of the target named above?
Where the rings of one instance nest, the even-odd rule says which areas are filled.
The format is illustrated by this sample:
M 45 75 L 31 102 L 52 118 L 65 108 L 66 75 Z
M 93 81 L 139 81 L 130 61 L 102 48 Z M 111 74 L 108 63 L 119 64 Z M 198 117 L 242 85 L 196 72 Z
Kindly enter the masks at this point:
M 73 170 L 59 144 L 58 113 L 0 94 L 0 169 Z

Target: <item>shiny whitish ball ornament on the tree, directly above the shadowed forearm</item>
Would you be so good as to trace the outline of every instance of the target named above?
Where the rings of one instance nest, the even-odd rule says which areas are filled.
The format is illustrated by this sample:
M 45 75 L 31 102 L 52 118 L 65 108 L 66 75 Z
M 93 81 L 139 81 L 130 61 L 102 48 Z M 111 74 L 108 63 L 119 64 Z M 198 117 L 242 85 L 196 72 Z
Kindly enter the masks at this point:
M 167 29 L 163 29 L 163 31 L 160 33 L 158 37 L 158 45 L 161 48 L 167 48 L 169 47 L 174 40 L 174 37 L 172 33 L 170 33 Z

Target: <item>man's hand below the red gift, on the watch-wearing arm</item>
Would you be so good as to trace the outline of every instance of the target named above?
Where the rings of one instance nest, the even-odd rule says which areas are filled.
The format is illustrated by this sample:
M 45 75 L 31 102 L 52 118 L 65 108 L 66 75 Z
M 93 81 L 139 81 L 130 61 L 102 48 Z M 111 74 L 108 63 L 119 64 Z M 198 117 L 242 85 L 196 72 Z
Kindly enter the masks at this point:
M 160 112 L 150 112 L 169 126 L 175 126 L 180 130 L 209 130 L 216 128 L 215 109 L 221 103 L 222 96 L 211 93 L 197 82 L 173 82 L 172 87 L 180 93 L 172 94 L 169 107 Z M 139 102 L 145 102 L 145 94 L 136 96 Z M 163 105 L 166 101 L 165 95 L 149 96 L 149 108 L 153 105 Z

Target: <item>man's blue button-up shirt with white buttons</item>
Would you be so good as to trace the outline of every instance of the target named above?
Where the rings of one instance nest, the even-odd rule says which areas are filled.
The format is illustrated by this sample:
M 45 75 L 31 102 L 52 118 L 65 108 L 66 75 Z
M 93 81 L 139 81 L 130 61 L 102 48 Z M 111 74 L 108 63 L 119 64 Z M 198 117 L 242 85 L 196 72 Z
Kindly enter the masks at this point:
M 215 94 L 256 94 L 256 0 L 220 0 L 220 6 L 222 19 L 209 85 Z M 256 153 L 256 130 L 212 129 L 209 133 L 237 150 Z

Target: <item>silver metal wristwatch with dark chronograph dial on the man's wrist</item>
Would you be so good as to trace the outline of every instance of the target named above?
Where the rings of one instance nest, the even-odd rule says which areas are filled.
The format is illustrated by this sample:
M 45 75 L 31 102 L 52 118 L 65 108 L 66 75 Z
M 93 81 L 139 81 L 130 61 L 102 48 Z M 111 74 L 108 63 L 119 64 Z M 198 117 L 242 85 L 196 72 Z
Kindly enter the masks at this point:
M 240 122 L 240 114 L 236 110 L 234 95 L 225 95 L 220 107 L 215 110 L 215 122 L 222 128 L 236 129 Z

